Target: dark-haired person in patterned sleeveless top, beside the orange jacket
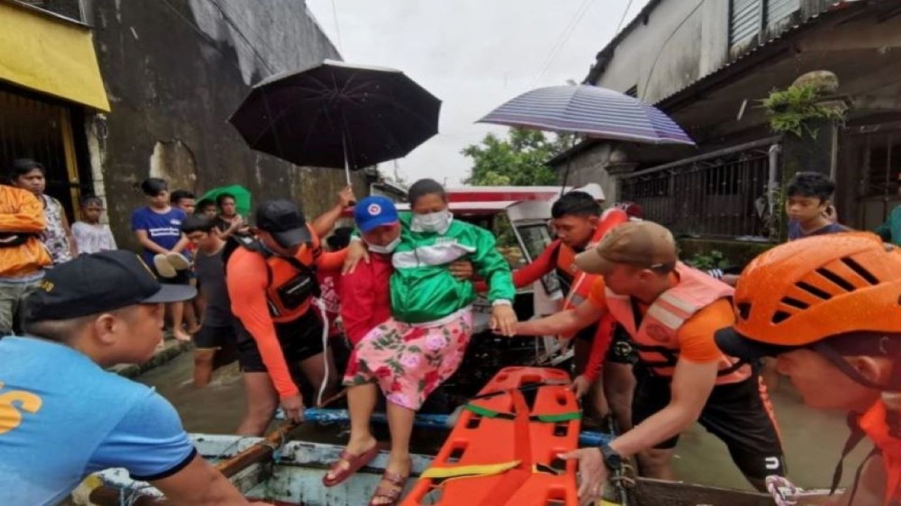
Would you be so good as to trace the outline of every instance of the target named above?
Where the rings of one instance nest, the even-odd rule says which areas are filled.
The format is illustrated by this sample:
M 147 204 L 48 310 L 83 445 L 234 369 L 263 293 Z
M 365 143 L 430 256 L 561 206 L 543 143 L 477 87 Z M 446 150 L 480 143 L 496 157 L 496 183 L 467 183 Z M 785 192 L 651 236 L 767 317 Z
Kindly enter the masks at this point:
M 47 228 L 41 233 L 41 240 L 50 251 L 53 265 L 56 266 L 75 258 L 77 248 L 62 204 L 44 193 L 47 188 L 46 176 L 44 166 L 31 158 L 19 158 L 13 162 L 13 185 L 32 192 L 44 206 Z

